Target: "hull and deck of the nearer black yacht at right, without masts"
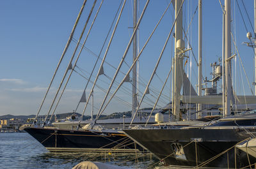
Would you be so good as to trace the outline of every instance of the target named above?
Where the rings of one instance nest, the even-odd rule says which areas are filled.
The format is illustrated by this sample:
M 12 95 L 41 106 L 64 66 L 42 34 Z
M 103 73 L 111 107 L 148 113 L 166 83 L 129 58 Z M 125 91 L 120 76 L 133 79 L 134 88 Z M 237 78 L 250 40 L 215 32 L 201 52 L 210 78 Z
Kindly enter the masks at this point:
M 256 162 L 256 158 L 235 149 L 237 143 L 255 137 L 256 111 L 204 125 L 124 131 L 165 165 L 241 168 Z

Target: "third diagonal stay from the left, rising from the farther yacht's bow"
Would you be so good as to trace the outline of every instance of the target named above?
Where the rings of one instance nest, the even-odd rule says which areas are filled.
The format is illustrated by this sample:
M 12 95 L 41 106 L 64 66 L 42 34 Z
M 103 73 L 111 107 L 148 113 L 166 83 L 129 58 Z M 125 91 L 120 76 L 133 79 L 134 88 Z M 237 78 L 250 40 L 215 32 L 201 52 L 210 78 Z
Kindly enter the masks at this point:
M 97 2 L 97 0 L 95 0 L 95 1 L 93 2 L 92 9 L 91 9 L 91 11 L 90 11 L 90 13 L 89 13 L 89 16 L 88 16 L 87 20 L 86 20 L 86 25 L 88 24 L 88 22 L 89 22 L 89 20 L 90 20 L 90 17 L 91 17 L 91 15 L 92 15 L 92 11 L 93 11 L 93 9 L 94 9 L 94 7 L 95 7 L 96 2 Z M 88 30 L 88 33 L 87 33 L 87 35 L 86 35 L 86 38 L 84 39 L 83 46 L 85 45 L 85 43 L 86 43 L 86 41 L 87 41 L 87 38 L 88 38 L 88 36 L 89 36 L 89 34 L 90 34 L 91 30 L 92 30 L 93 24 L 94 24 L 94 22 L 95 22 L 95 20 L 96 20 L 96 18 L 97 18 L 97 15 L 98 15 L 98 13 L 99 13 L 99 10 L 100 10 L 100 8 L 101 8 L 102 3 L 103 3 L 103 1 L 101 1 L 100 6 L 99 6 L 99 8 L 98 8 L 98 10 L 97 10 L 97 13 L 96 13 L 96 15 L 95 15 L 95 17 L 94 17 L 94 19 L 93 19 L 93 22 L 92 22 L 92 24 L 91 24 L 91 26 L 90 26 L 90 29 Z M 79 54 L 77 55 L 76 61 L 74 62 L 74 66 L 76 66 L 77 61 L 78 61 L 78 59 L 79 59 L 79 57 L 80 57 L 80 55 L 81 55 L 82 50 L 83 50 L 83 48 L 80 49 Z M 74 53 L 74 55 L 75 55 L 75 53 Z M 66 83 L 65 83 L 65 85 L 64 85 L 64 87 L 63 87 L 63 90 L 62 90 L 62 92 L 61 92 L 61 94 L 60 94 L 60 97 L 59 97 L 59 99 L 58 99 L 58 101 L 57 101 L 57 103 L 56 103 L 56 106 L 55 106 L 55 108 L 54 108 L 54 110 L 53 110 L 53 112 L 52 112 L 52 115 L 54 115 L 54 113 L 55 113 L 55 111 L 56 111 L 56 108 L 58 107 L 58 105 L 59 105 L 59 103 L 60 103 L 60 99 L 61 99 L 61 97 L 62 97 L 62 95 L 63 95 L 63 93 L 64 93 L 64 91 L 65 91 L 65 89 L 66 89 L 66 87 L 67 87 L 67 84 L 68 84 L 68 82 L 69 82 L 69 80 L 70 80 L 70 77 L 71 77 L 72 73 L 73 73 L 73 69 L 70 71 L 70 74 L 68 75 L 67 81 L 66 81 Z M 76 112 L 76 111 L 75 111 L 75 112 Z M 52 115 L 51 115 L 51 117 L 50 117 L 50 119 L 49 119 L 49 122 L 50 122 L 51 119 L 52 119 Z

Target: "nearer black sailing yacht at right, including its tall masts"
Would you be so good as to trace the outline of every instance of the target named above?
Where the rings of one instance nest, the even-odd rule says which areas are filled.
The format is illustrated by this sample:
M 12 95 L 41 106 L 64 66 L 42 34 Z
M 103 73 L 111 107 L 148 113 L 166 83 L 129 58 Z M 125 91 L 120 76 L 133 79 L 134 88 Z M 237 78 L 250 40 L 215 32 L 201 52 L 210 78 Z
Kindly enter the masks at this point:
M 175 5 L 180 6 L 181 1 L 177 0 L 175 2 Z M 223 57 L 223 68 L 225 67 L 223 71 L 223 73 L 225 73 L 225 76 L 223 76 L 223 96 L 201 96 L 201 93 L 199 93 L 198 96 L 188 96 L 189 101 L 187 99 L 186 103 L 198 103 L 200 109 L 202 104 L 221 105 L 224 118 L 220 119 L 218 122 L 184 128 L 173 128 L 172 126 L 172 128 L 140 128 L 124 130 L 126 135 L 139 143 L 141 147 L 148 149 L 148 151 L 155 154 L 165 165 L 191 166 L 194 168 L 252 168 L 256 162 L 255 156 L 251 156 L 248 151 L 244 151 L 244 149 L 246 149 L 244 143 L 251 138 L 255 138 L 255 110 L 243 114 L 236 114 L 236 111 L 233 112 L 237 107 L 243 107 L 243 109 L 246 110 L 246 108 L 252 106 L 252 108 L 255 109 L 256 97 L 236 96 L 232 90 L 230 61 L 234 58 L 234 55 L 231 55 L 232 33 L 230 31 L 230 0 L 225 0 L 225 5 L 221 5 L 221 8 L 223 10 L 223 23 L 225 23 L 223 24 L 223 39 L 225 44 L 223 45 L 223 49 L 225 49 L 223 50 L 223 56 L 225 56 Z M 199 0 L 199 31 L 200 29 L 202 30 L 202 22 L 200 20 L 200 15 L 202 15 L 201 10 L 202 1 Z M 177 24 L 175 32 L 180 29 L 182 29 L 182 24 Z M 202 59 L 200 58 L 200 52 L 202 52 L 202 46 L 200 46 L 200 39 L 202 37 L 200 37 L 200 35 L 202 34 L 198 34 L 198 59 L 200 60 Z M 180 33 L 179 38 L 182 38 L 182 33 Z M 255 44 L 253 44 L 252 47 L 255 47 Z M 179 57 L 179 55 L 177 57 Z M 177 62 L 176 66 L 178 67 L 176 71 L 183 70 L 183 67 L 179 67 L 179 62 Z M 201 78 L 202 70 L 200 70 L 200 64 L 198 67 L 198 77 Z M 176 103 L 173 103 L 173 114 L 177 115 L 176 120 L 179 120 L 180 108 L 177 101 L 180 101 L 180 86 L 182 84 L 180 84 L 179 75 L 175 78 L 178 79 L 173 79 L 175 82 L 178 82 L 175 84 L 178 85 L 178 87 L 173 89 L 173 101 L 176 101 Z M 202 79 L 198 82 L 200 87 L 201 80 Z M 182 99 L 182 101 L 185 100 Z M 241 149 L 243 149 L 243 151 L 241 151 Z

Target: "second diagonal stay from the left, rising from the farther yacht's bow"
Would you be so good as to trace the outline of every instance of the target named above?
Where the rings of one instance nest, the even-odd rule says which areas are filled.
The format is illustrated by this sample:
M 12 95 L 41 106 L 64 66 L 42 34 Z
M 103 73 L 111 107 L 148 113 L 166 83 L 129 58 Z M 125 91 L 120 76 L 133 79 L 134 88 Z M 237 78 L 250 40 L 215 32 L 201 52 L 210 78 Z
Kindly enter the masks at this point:
M 44 119 L 44 122 L 43 122 L 43 125 L 42 125 L 42 126 L 45 125 L 46 119 L 47 119 L 49 113 L 51 112 L 52 106 L 53 106 L 53 104 L 54 104 L 54 102 L 55 102 L 55 100 L 56 100 L 56 98 L 57 98 L 57 96 L 58 96 L 58 93 L 59 93 L 59 91 L 60 91 L 60 88 L 61 88 L 61 86 L 62 86 L 64 80 L 65 80 L 65 77 L 67 76 L 69 67 L 70 67 L 70 65 L 72 65 L 72 61 L 73 61 L 73 59 L 74 59 L 74 56 L 76 55 L 77 48 L 79 47 L 79 43 L 80 43 L 81 39 L 83 38 L 84 31 L 85 31 L 85 29 L 86 29 L 86 27 L 87 27 L 87 24 L 88 24 L 88 22 L 89 22 L 89 19 L 90 19 L 90 17 L 91 17 L 91 14 L 92 14 L 92 11 L 93 11 L 93 9 L 94 9 L 94 6 L 95 6 L 96 1 L 97 1 L 97 0 L 95 0 L 94 3 L 93 3 L 92 9 L 91 9 L 91 11 L 90 11 L 90 14 L 88 15 L 87 20 L 86 20 L 86 23 L 84 24 L 83 31 L 82 31 L 82 33 L 80 34 L 79 41 L 78 41 L 78 43 L 77 43 L 77 45 L 76 45 L 76 48 L 75 48 L 75 50 L 74 50 L 74 52 L 73 52 L 73 54 L 72 54 L 72 57 L 70 58 L 70 61 L 69 61 L 68 66 L 67 66 L 67 69 L 66 69 L 66 71 L 65 71 L 65 73 L 64 73 L 64 75 L 63 75 L 63 78 L 62 78 L 62 80 L 61 80 L 61 82 L 60 82 L 60 85 L 59 85 L 58 90 L 57 90 L 57 92 L 56 92 L 56 94 L 55 94 L 55 96 L 54 96 L 54 99 L 52 100 L 51 107 L 49 108 L 49 110 L 48 110 L 48 112 L 47 112 L 47 115 L 46 115 L 46 117 L 45 117 L 45 119 Z M 87 37 L 86 37 L 86 38 L 87 38 Z M 86 40 L 85 40 L 85 41 L 86 41 Z M 85 41 L 84 41 L 84 43 L 85 43 Z M 78 58 L 79 58 L 79 55 L 77 56 L 77 59 L 78 59 Z M 77 60 L 76 60 L 76 61 L 77 61 Z M 72 74 L 72 71 L 70 72 L 70 75 L 69 75 L 68 79 L 70 78 L 71 74 Z M 68 81 L 67 81 L 67 82 L 68 82 Z M 66 83 L 66 85 L 67 85 L 67 83 Z M 50 122 L 50 121 L 48 121 L 48 124 L 49 124 L 49 122 Z

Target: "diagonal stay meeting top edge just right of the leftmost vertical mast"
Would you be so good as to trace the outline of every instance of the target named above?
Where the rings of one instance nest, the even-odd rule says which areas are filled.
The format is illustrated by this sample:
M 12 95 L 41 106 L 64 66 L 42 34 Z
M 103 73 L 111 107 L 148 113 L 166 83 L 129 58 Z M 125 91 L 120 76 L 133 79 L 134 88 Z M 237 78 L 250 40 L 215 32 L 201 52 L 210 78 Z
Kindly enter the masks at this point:
M 128 43 L 126 49 L 125 49 L 124 55 L 122 56 L 122 59 L 121 59 L 121 61 L 120 61 L 120 64 L 118 65 L 118 68 L 117 68 L 117 70 L 116 70 L 116 72 L 115 72 L 115 75 L 114 75 L 112 81 L 111 81 L 111 84 L 109 85 L 108 92 L 107 92 L 106 95 L 104 96 L 104 100 L 102 101 L 102 104 L 100 105 L 100 110 L 102 109 L 102 107 L 103 107 L 103 105 L 104 105 L 104 103 L 105 103 L 105 101 L 106 101 L 106 99 L 107 99 L 107 97 L 108 97 L 108 94 L 109 94 L 109 91 L 110 91 L 110 89 L 111 89 L 111 87 L 112 87 L 112 85 L 113 85 L 113 82 L 115 82 L 115 78 L 116 78 L 116 76 L 118 75 L 118 72 L 119 72 L 120 68 L 122 67 L 122 64 L 123 64 L 124 59 L 125 59 L 125 57 L 126 57 L 126 55 L 127 55 L 127 53 L 128 53 L 129 48 L 131 47 L 132 40 L 134 39 L 134 35 L 136 34 L 136 32 L 137 32 L 137 30 L 138 30 L 138 27 L 140 26 L 141 19 L 143 18 L 143 15 L 144 15 L 145 11 L 147 10 L 147 6 L 148 6 L 149 1 L 150 1 L 150 0 L 147 0 L 145 6 L 144 6 L 144 8 L 143 8 L 143 11 L 142 11 L 142 13 L 141 13 L 141 15 L 140 15 L 140 18 L 139 18 L 139 20 L 138 20 L 138 23 L 136 24 L 136 27 L 134 28 L 134 31 L 133 31 L 133 33 L 132 33 L 132 36 L 131 36 L 130 40 L 129 40 L 129 43 Z M 100 111 L 98 112 L 98 115 L 99 115 L 99 113 L 100 113 Z

